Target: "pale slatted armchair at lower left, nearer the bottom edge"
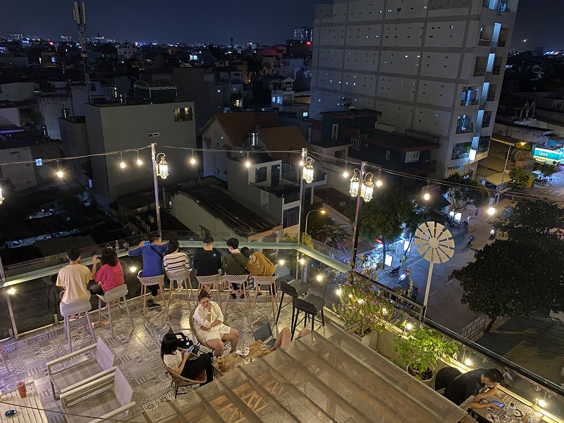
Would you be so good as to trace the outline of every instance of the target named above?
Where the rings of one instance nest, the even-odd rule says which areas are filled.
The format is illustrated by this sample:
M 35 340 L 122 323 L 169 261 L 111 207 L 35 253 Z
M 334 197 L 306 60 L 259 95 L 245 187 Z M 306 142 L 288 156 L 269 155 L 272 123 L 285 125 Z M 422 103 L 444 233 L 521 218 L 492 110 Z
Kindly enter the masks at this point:
M 121 421 L 135 414 L 133 388 L 120 369 L 61 393 L 61 406 L 68 423 Z

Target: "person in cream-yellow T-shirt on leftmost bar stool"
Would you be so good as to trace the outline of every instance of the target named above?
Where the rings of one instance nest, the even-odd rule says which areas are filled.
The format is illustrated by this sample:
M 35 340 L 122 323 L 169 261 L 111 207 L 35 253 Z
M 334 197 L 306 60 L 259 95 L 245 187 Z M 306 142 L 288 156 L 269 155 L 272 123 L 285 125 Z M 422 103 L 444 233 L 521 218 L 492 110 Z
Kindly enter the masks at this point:
M 57 274 L 56 286 L 63 288 L 61 293 L 61 306 L 71 302 L 90 300 L 87 285 L 90 282 L 90 269 L 79 264 L 80 250 L 71 248 L 66 252 L 68 266 L 64 266 Z M 71 316 L 74 319 L 75 316 Z

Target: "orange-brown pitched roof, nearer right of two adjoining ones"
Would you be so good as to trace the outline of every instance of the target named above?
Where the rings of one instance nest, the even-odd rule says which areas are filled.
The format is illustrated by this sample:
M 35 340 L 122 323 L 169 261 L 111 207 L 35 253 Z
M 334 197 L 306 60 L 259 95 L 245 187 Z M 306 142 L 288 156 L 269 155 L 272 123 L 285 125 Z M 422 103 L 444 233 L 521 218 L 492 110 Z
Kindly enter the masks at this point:
M 273 153 L 276 150 L 301 150 L 309 147 L 309 142 L 305 139 L 298 126 L 278 126 L 278 128 L 263 128 L 260 130 L 260 139 L 264 142 L 266 150 L 274 159 L 283 162 L 298 164 L 300 154 Z

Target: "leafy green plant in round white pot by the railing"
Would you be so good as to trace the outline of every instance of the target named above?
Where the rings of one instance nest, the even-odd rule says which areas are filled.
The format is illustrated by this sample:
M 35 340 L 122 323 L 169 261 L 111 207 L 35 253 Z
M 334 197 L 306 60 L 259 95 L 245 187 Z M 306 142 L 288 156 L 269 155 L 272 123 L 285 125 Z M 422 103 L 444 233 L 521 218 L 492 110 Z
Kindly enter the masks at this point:
M 419 381 L 433 379 L 433 368 L 439 358 L 444 356 L 450 362 L 450 357 L 455 357 L 458 351 L 455 341 L 424 325 L 416 326 L 407 336 L 398 334 L 393 342 L 396 344 L 393 351 L 401 364 Z

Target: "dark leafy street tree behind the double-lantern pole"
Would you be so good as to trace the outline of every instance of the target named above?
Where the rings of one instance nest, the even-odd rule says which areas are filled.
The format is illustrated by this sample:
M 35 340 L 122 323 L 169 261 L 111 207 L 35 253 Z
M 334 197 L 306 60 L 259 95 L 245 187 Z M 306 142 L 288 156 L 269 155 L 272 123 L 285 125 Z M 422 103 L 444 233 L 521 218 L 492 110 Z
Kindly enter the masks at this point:
M 410 196 L 398 183 L 374 189 L 374 197 L 362 206 L 360 236 L 374 243 L 382 240 L 382 253 L 386 257 L 386 243 L 393 243 L 403 231 L 403 223 L 415 209 Z M 355 221 L 356 204 L 345 206 L 345 216 Z

